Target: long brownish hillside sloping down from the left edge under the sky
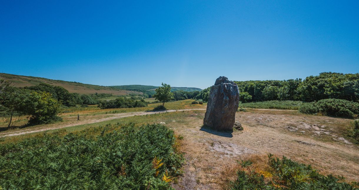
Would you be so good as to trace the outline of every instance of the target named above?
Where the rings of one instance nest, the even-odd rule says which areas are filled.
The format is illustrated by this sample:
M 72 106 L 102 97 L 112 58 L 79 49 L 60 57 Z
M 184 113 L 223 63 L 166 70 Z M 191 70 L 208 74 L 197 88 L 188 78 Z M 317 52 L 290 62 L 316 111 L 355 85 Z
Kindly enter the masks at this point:
M 125 89 L 118 89 L 112 87 L 105 87 L 93 84 L 83 84 L 78 82 L 68 82 L 64 80 L 52 80 L 41 77 L 29 77 L 22 75 L 13 75 L 0 73 L 1 77 L 8 79 L 13 83 L 15 87 L 26 87 L 26 86 L 34 86 L 39 83 L 47 83 L 55 86 L 64 87 L 70 93 L 79 93 L 79 94 L 94 94 L 94 93 L 107 93 L 113 95 L 126 95 L 126 94 L 142 94 L 142 92 L 134 92 Z M 156 87 L 154 87 L 156 88 Z

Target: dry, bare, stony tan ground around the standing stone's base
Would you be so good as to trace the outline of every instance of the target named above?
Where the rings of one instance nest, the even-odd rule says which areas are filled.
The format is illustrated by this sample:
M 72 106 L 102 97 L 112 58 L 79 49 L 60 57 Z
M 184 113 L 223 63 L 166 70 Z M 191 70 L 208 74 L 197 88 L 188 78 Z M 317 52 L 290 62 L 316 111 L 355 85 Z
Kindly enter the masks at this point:
M 202 128 L 204 111 L 190 115 L 189 124 L 166 124 L 184 136 L 187 162 L 176 189 L 223 189 L 236 160 L 248 155 L 287 156 L 312 164 L 322 173 L 359 181 L 359 147 L 340 136 L 348 119 L 308 116 L 293 111 L 237 112 L 243 131 L 220 133 Z M 229 176 L 228 176 L 229 175 Z M 232 176 L 231 176 L 232 175 Z

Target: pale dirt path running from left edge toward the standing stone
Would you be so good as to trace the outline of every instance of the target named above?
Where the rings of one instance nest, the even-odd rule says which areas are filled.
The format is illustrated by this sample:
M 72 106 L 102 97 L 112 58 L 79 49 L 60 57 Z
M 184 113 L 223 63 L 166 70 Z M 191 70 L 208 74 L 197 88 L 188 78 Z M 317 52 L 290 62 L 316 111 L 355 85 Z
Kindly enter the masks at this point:
M 77 125 L 83 125 L 83 124 L 92 124 L 92 123 L 97 123 L 97 122 L 101 122 L 101 121 L 108 121 L 108 120 L 119 119 L 119 118 L 123 118 L 123 117 L 131 117 L 131 116 L 136 116 L 136 115 L 147 115 L 147 114 L 150 115 L 150 114 L 158 114 L 158 113 L 164 113 L 164 112 L 190 111 L 190 110 L 206 110 L 206 109 L 141 111 L 141 112 L 106 114 L 106 115 L 103 115 L 104 116 L 103 118 L 89 119 L 89 120 L 79 120 L 79 121 L 76 121 L 76 122 L 66 123 L 66 124 L 59 123 L 58 125 L 56 125 L 54 127 L 48 127 L 48 126 L 45 125 L 43 127 L 40 126 L 39 128 L 30 128 L 30 129 L 24 128 L 23 130 L 9 131 L 9 132 L 5 132 L 5 133 L 0 134 L 0 137 L 16 136 L 16 135 L 23 135 L 23 134 L 28 134 L 28 133 L 36 133 L 36 132 L 41 132 L 41 131 L 46 131 L 46 130 L 61 129 L 61 128 L 77 126 Z

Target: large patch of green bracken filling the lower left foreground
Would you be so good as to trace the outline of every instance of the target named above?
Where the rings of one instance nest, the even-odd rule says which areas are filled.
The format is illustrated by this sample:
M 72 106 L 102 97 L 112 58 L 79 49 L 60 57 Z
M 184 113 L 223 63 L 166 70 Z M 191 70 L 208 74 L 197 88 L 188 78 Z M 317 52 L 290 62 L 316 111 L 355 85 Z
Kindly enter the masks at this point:
M 106 125 L 0 145 L 4 189 L 171 189 L 181 173 L 163 125 Z M 1 188 L 0 188 L 1 189 Z

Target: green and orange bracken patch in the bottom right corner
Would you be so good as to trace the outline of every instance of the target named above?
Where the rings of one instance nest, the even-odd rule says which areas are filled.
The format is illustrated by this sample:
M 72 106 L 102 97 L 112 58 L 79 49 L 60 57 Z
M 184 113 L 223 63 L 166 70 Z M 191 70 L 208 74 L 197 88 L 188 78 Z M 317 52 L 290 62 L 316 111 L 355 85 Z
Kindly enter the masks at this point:
M 267 168 L 255 168 L 251 161 L 242 161 L 242 170 L 237 171 L 236 181 L 230 189 L 266 190 L 358 190 L 332 175 L 321 175 L 311 165 L 301 164 L 283 156 L 282 159 L 268 155 Z

